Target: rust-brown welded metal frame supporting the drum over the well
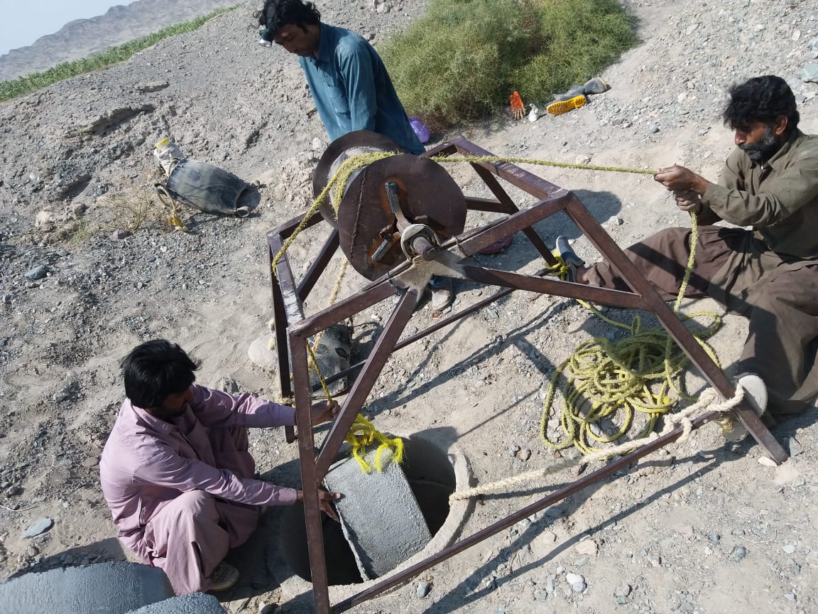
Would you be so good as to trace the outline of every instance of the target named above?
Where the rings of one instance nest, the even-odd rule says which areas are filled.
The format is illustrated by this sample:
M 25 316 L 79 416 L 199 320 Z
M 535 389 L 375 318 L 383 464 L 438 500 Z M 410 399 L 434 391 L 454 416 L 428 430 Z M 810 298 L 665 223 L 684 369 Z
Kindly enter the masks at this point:
M 464 156 L 491 156 L 488 151 L 481 149 L 467 141 L 465 138 L 457 138 L 431 151 L 427 151 L 424 156 L 445 155 L 452 156 L 461 154 Z M 278 354 L 279 377 L 281 393 L 285 397 L 294 396 L 296 408 L 296 426 L 298 427 L 299 457 L 301 467 L 301 479 L 303 484 L 304 497 L 304 517 L 307 526 L 308 551 L 310 558 L 310 569 L 312 573 L 312 593 L 315 600 L 317 614 L 330 614 L 330 612 L 344 612 L 359 603 L 373 598 L 378 594 L 400 585 L 412 577 L 420 574 L 429 567 L 436 565 L 456 553 L 479 543 L 488 537 L 505 530 L 515 522 L 530 516 L 560 500 L 570 494 L 586 488 L 588 485 L 599 481 L 605 476 L 618 471 L 621 467 L 627 467 L 637 458 L 653 452 L 676 440 L 681 435 L 681 430 L 672 431 L 666 436 L 660 437 L 650 445 L 636 449 L 631 454 L 619 458 L 613 463 L 588 476 L 573 482 L 562 490 L 540 499 L 536 503 L 515 512 L 510 516 L 495 522 L 491 526 L 480 530 L 474 535 L 470 535 L 447 549 L 443 549 L 438 554 L 425 558 L 416 565 L 408 568 L 389 579 L 382 580 L 369 589 L 348 598 L 332 606 L 329 599 L 329 586 L 326 577 L 326 556 L 321 534 L 321 511 L 318 505 L 318 489 L 321 481 L 332 463 L 335 454 L 338 453 L 340 445 L 344 441 L 344 436 L 352 427 L 357 413 L 362 409 L 370 394 L 372 386 L 380 376 L 386 360 L 393 351 L 398 350 L 418 339 L 429 335 L 431 332 L 445 327 L 450 323 L 459 320 L 465 315 L 474 313 L 484 305 L 488 305 L 502 296 L 510 294 L 515 289 L 528 290 L 551 294 L 555 296 L 565 296 L 574 299 L 590 300 L 602 305 L 613 305 L 629 309 L 644 309 L 656 315 L 659 322 L 667 332 L 676 340 L 682 350 L 690 357 L 703 377 L 721 395 L 722 399 L 730 399 L 735 394 L 735 387 L 727 379 L 724 372 L 718 368 L 717 364 L 705 353 L 699 342 L 681 323 L 672 309 L 654 291 L 653 287 L 637 271 L 636 267 L 627 259 L 627 256 L 605 233 L 605 229 L 600 223 L 588 213 L 582 202 L 578 200 L 572 192 L 564 190 L 545 179 L 528 173 L 510 163 L 473 163 L 472 167 L 477 172 L 489 190 L 496 197 L 496 200 L 466 197 L 470 210 L 493 211 L 497 213 L 509 214 L 509 217 L 486 227 L 474 231 L 466 232 L 459 237 L 443 243 L 443 246 L 434 255 L 434 261 L 426 264 L 437 264 L 438 269 L 430 274 L 447 274 L 450 277 L 465 278 L 474 282 L 482 282 L 501 287 L 492 296 L 462 309 L 446 318 L 441 318 L 438 322 L 417 332 L 415 335 L 407 337 L 403 341 L 398 341 L 401 333 L 408 323 L 415 307 L 420 300 L 425 281 L 417 281 L 412 278 L 413 262 L 399 264 L 389 273 L 388 276 L 375 280 L 361 292 L 340 300 L 335 305 L 319 311 L 317 314 L 305 317 L 303 314 L 303 301 L 307 298 L 312 288 L 321 277 L 321 273 L 326 269 L 332 255 L 339 249 L 338 231 L 333 230 L 326 240 L 321 252 L 315 262 L 308 269 L 303 280 L 296 285 L 289 260 L 284 255 L 276 265 L 275 274 L 272 275 L 272 300 L 276 324 L 276 347 Z M 531 207 L 519 210 L 514 201 L 508 196 L 497 180 L 501 178 L 506 182 L 519 187 L 528 194 L 539 199 Z M 564 282 L 555 278 L 544 278 L 542 275 L 524 275 L 520 273 L 510 273 L 499 269 L 488 269 L 478 266 L 470 261 L 469 256 L 474 255 L 479 250 L 504 237 L 509 237 L 513 233 L 524 233 L 533 246 L 539 251 L 547 264 L 555 264 L 555 258 L 551 251 L 547 249 L 542 239 L 537 236 L 533 229 L 533 224 L 558 212 L 567 214 L 578 228 L 585 234 L 593 246 L 601 255 L 618 271 L 627 281 L 630 292 L 609 290 L 606 288 L 589 287 L 578 283 Z M 268 233 L 270 255 L 278 253 L 287 237 L 294 232 L 294 229 L 301 223 L 303 216 L 290 220 L 276 228 L 272 233 Z M 321 222 L 321 215 L 316 214 L 308 220 L 308 225 L 312 226 Z M 420 256 L 416 257 L 416 260 Z M 308 371 L 307 341 L 312 335 L 325 330 L 327 327 L 344 319 L 360 313 L 362 310 L 379 303 L 395 294 L 396 288 L 402 289 L 402 295 L 395 306 L 392 315 L 384 325 L 383 331 L 375 341 L 366 360 L 353 365 L 353 367 L 342 373 L 335 374 L 331 379 L 343 377 L 360 371 L 355 377 L 350 387 L 344 403 L 341 405 L 338 417 L 330 428 L 321 445 L 317 450 L 312 433 L 312 422 L 309 407 L 311 403 L 312 387 L 310 385 Z M 288 358 L 287 348 L 290 349 Z M 290 368 L 291 365 L 291 368 Z M 292 381 L 290 382 L 290 371 Z M 780 446 L 757 418 L 756 414 L 746 403 L 742 403 L 735 410 L 735 415 L 744 423 L 748 431 L 757 442 L 762 445 L 766 454 L 776 463 L 783 463 L 787 458 L 786 452 Z M 694 428 L 698 428 L 713 418 L 716 413 L 705 413 L 694 420 Z M 294 431 L 287 430 L 287 440 L 295 440 Z

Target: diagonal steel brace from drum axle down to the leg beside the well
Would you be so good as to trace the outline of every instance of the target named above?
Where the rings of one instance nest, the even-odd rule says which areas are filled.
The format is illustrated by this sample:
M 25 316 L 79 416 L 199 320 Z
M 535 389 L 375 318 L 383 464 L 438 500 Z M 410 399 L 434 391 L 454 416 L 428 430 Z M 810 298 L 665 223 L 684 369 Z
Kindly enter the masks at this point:
M 372 391 L 372 386 L 375 386 L 375 381 L 378 381 L 380 372 L 384 369 L 384 364 L 392 355 L 395 344 L 400 339 L 407 322 L 411 319 L 411 314 L 415 312 L 419 300 L 420 294 L 415 289 L 404 292 L 389 320 L 384 325 L 384 330 L 380 332 L 378 341 L 375 341 L 375 346 L 366 359 L 366 364 L 358 374 L 347 398 L 344 400 L 342 408 L 344 419 L 335 420 L 330 429 L 330 434 L 326 436 L 324 445 L 321 446 L 321 453 L 318 454 L 316 460 L 316 474 L 319 479 L 326 476 L 326 472 L 334 462 L 335 454 L 338 454 L 341 444 L 344 443 L 344 437 L 347 436 L 349 429 L 353 426 L 355 416 L 363 407 L 363 404 L 366 403 L 366 398 Z

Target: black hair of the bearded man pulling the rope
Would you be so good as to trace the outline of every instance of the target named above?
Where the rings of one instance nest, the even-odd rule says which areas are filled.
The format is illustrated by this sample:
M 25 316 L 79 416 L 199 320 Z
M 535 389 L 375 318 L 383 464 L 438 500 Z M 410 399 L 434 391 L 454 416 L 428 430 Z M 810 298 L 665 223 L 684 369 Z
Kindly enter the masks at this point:
M 755 122 L 770 126 L 780 115 L 787 118 L 786 133 L 798 127 L 800 115 L 793 90 L 784 79 L 774 74 L 733 84 L 728 93 L 730 101 L 724 108 L 723 118 L 725 125 L 731 129 L 747 129 Z

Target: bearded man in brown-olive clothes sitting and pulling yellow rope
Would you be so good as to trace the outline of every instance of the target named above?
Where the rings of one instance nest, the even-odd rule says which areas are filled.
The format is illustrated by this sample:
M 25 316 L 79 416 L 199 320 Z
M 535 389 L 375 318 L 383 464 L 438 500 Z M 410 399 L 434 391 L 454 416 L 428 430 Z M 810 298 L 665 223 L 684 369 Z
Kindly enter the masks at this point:
M 818 397 L 818 137 L 798 129 L 789 85 L 768 75 L 730 88 L 725 124 L 735 150 L 719 183 L 681 166 L 654 176 L 681 210 L 698 215 L 685 296 L 712 296 L 749 318 L 737 379 L 761 415 L 798 413 Z M 736 226 L 713 226 L 718 221 Z M 625 252 L 665 300 L 679 291 L 690 228 L 667 228 Z M 565 237 L 557 251 L 572 281 L 627 290 L 605 262 L 591 267 Z

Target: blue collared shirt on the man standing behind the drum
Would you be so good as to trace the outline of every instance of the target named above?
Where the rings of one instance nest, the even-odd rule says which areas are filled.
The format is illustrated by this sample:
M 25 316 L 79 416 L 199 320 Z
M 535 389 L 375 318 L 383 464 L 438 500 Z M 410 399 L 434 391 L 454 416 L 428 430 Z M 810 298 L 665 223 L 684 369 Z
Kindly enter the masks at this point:
M 299 57 L 312 100 L 330 139 L 355 130 L 384 134 L 413 154 L 423 153 L 371 44 L 348 29 L 321 24 L 315 56 Z

